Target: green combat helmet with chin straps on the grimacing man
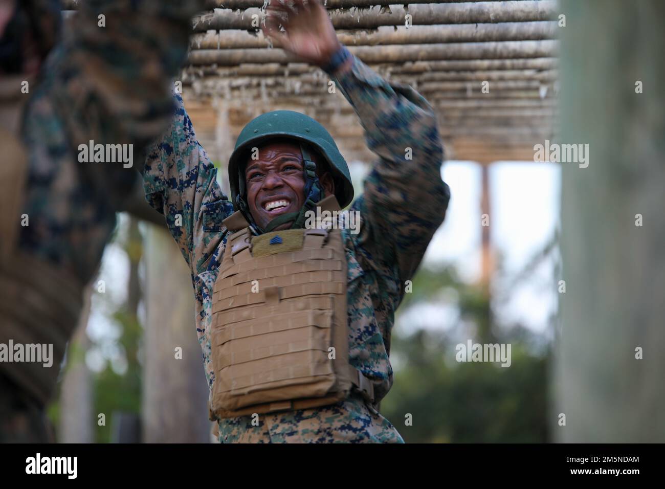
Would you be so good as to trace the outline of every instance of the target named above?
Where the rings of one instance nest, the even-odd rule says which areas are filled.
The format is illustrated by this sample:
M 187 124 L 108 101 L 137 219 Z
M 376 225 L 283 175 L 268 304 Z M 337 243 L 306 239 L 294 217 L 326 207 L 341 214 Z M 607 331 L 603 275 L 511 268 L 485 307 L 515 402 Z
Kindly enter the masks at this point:
M 300 212 L 289 212 L 273 219 L 265 230 L 254 222 L 247 206 L 244 168 L 251 148 L 257 147 L 269 139 L 286 138 L 299 142 L 303 154 L 305 173 L 305 205 Z M 335 197 L 341 208 L 353 200 L 353 185 L 348 172 L 348 165 L 337 149 L 330 133 L 313 118 L 293 112 L 293 110 L 274 110 L 261 114 L 247 123 L 235 142 L 235 149 L 229 158 L 229 185 L 231 200 L 235 210 L 240 210 L 247 222 L 258 234 L 269 232 L 285 222 L 293 221 L 291 228 L 302 228 L 305 212 L 314 210 L 317 202 L 323 199 L 323 188 L 319 184 L 316 164 L 311 160 L 308 146 L 319 151 L 328 162 L 335 181 Z

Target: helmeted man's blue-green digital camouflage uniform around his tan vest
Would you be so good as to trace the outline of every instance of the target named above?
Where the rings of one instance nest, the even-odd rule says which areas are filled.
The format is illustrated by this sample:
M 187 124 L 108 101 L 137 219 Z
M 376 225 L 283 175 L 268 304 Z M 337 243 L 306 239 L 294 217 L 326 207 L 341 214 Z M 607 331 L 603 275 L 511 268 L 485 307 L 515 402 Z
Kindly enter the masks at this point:
M 384 81 L 354 58 L 351 71 L 333 78 L 353 106 L 369 148 L 379 156 L 350 210 L 360 212 L 360 232 L 342 230 L 348 261 L 349 359 L 374 380 L 376 402 L 392 386 L 388 359 L 394 313 L 404 282 L 444 220 L 450 191 L 440 176 L 443 150 L 436 116 L 409 86 Z M 148 202 L 166 216 L 192 270 L 196 331 L 205 375 L 212 387 L 211 304 L 227 236 L 222 220 L 233 206 L 221 192 L 205 150 L 196 140 L 182 98 L 176 116 L 146 160 Z M 406 159 L 406 148 L 412 159 Z M 422 197 L 427 196 L 427 204 Z M 182 226 L 176 226 L 180 215 Z M 371 405 L 352 395 L 324 408 L 218 421 L 220 442 L 403 442 Z

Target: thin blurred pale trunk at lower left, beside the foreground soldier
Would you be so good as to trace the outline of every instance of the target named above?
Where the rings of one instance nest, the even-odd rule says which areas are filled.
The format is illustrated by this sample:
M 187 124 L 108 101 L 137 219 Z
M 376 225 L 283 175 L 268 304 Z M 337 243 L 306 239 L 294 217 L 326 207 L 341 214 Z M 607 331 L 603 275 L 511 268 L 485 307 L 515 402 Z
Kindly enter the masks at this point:
M 67 347 L 67 366 L 60 393 L 61 443 L 92 443 L 92 377 L 85 363 L 90 339 L 86 334 L 90 317 L 91 287 L 84 289 L 83 309 L 78 318 L 74 336 Z

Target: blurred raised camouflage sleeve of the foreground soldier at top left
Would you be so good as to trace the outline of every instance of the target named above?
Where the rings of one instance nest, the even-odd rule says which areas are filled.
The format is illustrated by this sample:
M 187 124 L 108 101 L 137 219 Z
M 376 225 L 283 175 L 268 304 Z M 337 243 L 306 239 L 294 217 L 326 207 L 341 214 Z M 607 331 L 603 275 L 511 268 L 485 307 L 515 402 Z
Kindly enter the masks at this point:
M 86 0 L 64 29 L 51 92 L 76 148 L 134 144 L 135 156 L 168 124 L 172 79 L 184 63 L 203 0 Z M 135 160 L 138 158 L 135 157 Z

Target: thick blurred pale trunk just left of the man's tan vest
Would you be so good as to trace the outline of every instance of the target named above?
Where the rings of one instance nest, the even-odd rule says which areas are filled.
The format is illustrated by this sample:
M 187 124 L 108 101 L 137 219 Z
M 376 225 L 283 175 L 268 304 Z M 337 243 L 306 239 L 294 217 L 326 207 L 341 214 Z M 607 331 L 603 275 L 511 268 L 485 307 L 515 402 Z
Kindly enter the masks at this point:
M 208 388 L 196 336 L 190 271 L 173 238 L 162 228 L 148 226 L 144 249 L 143 440 L 209 442 Z

